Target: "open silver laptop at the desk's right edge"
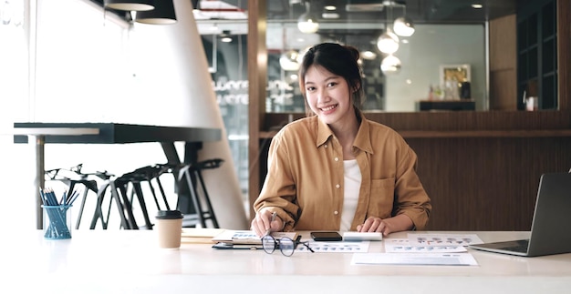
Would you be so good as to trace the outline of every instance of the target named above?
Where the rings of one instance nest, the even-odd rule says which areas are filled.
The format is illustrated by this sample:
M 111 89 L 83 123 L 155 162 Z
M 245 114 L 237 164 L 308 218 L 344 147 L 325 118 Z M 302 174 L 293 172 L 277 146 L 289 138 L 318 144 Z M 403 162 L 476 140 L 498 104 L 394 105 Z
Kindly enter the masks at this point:
M 541 176 L 529 239 L 472 244 L 469 248 L 523 257 L 571 252 L 571 174 Z

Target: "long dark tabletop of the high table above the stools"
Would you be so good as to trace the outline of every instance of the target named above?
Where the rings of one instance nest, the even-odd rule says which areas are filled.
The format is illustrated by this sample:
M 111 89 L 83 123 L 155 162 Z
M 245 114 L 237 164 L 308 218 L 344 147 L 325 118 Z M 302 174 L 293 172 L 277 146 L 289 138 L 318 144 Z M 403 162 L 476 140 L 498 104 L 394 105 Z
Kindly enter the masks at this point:
M 203 127 L 161 127 L 146 125 L 130 125 L 115 123 L 14 123 L 14 128 L 35 130 L 35 134 L 42 128 L 52 131 L 54 128 L 62 129 L 99 129 L 98 134 L 88 135 L 50 135 L 45 138 L 46 143 L 66 144 L 121 144 L 141 142 L 211 142 L 219 141 L 222 131 L 219 128 Z M 74 135 L 74 134 L 71 134 Z M 14 143 L 27 143 L 26 135 L 15 135 Z

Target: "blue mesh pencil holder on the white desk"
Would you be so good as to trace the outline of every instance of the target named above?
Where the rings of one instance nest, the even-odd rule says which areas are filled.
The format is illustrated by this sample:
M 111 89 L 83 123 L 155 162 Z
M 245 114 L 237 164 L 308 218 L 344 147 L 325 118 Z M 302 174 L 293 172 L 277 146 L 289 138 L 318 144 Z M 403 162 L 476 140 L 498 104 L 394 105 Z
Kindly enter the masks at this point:
M 44 238 L 71 238 L 71 206 L 44 205 Z

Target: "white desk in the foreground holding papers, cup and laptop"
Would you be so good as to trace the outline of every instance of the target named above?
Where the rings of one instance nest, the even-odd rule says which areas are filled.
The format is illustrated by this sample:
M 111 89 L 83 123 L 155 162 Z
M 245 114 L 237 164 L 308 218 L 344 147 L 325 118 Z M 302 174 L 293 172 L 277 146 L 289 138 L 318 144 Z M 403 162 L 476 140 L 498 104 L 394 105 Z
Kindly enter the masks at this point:
M 263 250 L 216 250 L 209 244 L 161 250 L 154 233 L 84 230 L 68 240 L 46 240 L 39 230 L 10 235 L 0 250 L 0 292 L 521 294 L 571 289 L 571 254 L 520 258 L 469 249 L 478 266 L 355 266 L 350 253 L 296 252 L 287 258 Z M 448 233 L 475 233 L 483 241 L 529 235 Z M 406 232 L 390 238 L 406 238 Z M 382 244 L 375 242 L 369 252 L 382 252 Z

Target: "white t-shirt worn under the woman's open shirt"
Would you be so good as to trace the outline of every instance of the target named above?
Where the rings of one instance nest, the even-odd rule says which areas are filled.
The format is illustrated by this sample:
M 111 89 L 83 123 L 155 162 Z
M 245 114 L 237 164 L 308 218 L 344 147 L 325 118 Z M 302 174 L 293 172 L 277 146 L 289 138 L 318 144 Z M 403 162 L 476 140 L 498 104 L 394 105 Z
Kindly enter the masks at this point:
M 357 211 L 358 190 L 361 187 L 361 170 L 358 168 L 357 159 L 343 160 L 343 167 L 345 167 L 345 196 L 343 198 L 340 231 L 345 232 L 351 228 L 355 211 Z

